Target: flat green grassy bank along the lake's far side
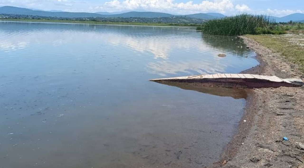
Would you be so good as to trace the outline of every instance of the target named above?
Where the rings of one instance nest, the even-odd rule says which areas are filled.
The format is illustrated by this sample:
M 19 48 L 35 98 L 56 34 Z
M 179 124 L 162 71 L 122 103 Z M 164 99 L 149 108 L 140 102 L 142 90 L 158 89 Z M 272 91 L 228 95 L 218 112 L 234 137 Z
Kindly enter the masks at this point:
M 50 22 L 50 23 L 80 23 L 97 25 L 136 25 L 136 26 L 181 26 L 197 27 L 196 24 L 174 24 L 174 23 L 137 23 L 137 22 L 102 22 L 102 21 L 73 21 L 73 20 L 48 20 L 48 19 L 0 19 L 0 21 L 26 21 L 26 22 Z

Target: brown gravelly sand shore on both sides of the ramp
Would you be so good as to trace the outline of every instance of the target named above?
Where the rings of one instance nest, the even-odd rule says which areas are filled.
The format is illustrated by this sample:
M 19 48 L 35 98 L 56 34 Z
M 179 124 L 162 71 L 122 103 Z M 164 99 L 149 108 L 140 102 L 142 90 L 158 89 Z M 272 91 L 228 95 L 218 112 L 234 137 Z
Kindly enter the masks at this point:
M 296 64 L 241 36 L 260 65 L 242 73 L 304 78 Z M 246 121 L 246 122 L 245 122 Z M 288 137 L 288 141 L 282 138 Z M 213 167 L 304 167 L 304 87 L 252 89 L 238 133 Z

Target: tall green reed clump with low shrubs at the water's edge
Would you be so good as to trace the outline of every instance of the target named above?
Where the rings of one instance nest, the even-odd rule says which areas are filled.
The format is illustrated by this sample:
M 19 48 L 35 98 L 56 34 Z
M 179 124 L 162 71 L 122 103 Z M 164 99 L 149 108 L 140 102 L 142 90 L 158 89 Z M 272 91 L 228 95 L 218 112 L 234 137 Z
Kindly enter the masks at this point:
M 286 31 L 304 30 L 304 24 L 292 22 L 278 24 L 268 16 L 242 14 L 209 20 L 197 29 L 211 35 L 281 35 Z

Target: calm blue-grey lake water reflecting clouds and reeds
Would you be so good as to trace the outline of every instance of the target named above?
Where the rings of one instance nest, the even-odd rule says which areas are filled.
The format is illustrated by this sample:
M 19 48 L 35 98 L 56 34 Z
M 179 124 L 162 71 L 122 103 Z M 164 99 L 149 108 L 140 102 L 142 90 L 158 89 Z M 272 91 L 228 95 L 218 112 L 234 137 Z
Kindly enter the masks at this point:
M 246 92 L 148 80 L 238 73 L 253 56 L 193 28 L 0 22 L 0 168 L 209 166 Z

